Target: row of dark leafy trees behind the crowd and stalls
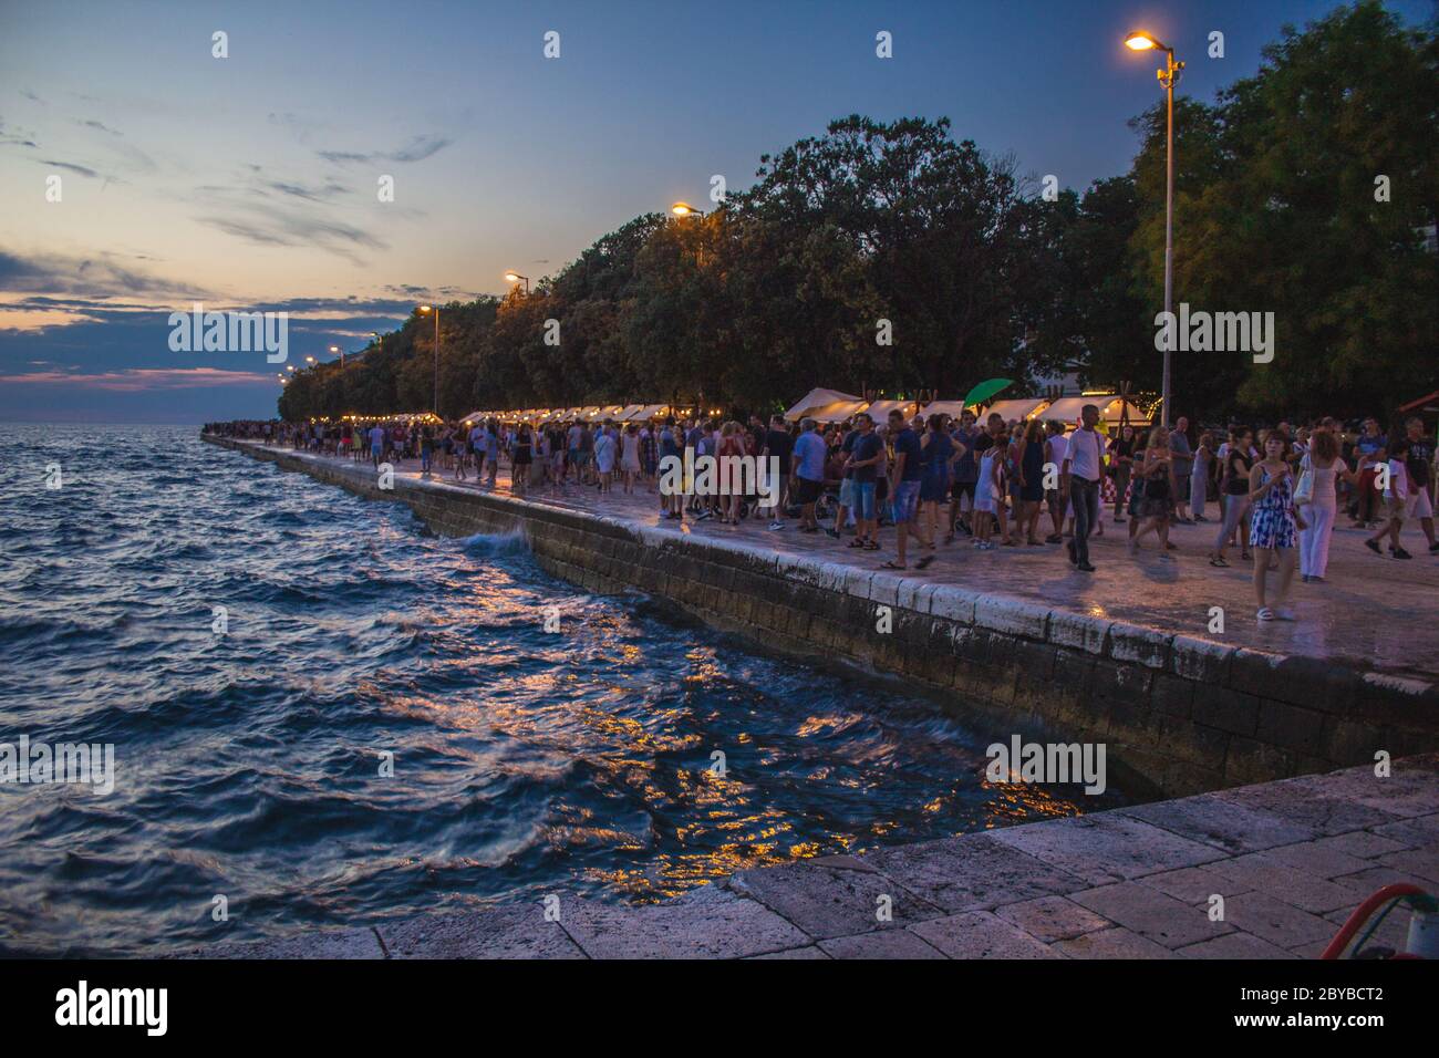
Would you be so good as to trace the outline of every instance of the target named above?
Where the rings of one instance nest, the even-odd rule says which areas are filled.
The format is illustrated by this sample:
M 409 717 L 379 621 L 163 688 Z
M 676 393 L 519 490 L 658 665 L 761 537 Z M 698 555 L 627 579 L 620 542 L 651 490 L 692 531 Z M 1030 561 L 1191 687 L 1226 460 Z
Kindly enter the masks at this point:
M 1381 412 L 1432 389 L 1432 29 L 1341 7 L 1286 30 L 1213 104 L 1176 109 L 1176 304 L 1272 311 L 1278 331 L 1269 364 L 1176 356 L 1177 412 Z M 754 186 L 707 216 L 637 217 L 530 294 L 443 307 L 440 412 L 758 410 L 816 384 L 957 396 L 1069 366 L 1154 392 L 1163 107 L 1131 124 L 1128 174 L 1045 196 L 948 119 L 835 121 L 764 155 Z M 344 373 L 296 373 L 281 415 L 429 407 L 432 327 L 412 317 Z

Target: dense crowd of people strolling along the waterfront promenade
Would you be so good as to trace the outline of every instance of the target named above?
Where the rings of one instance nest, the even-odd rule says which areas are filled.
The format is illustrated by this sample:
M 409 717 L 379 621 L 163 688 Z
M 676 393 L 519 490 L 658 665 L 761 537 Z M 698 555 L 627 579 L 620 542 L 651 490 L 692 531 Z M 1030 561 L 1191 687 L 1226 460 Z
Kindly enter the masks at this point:
M 1322 583 L 1333 531 L 1341 517 L 1370 533 L 1368 550 L 1412 557 L 1403 531 L 1417 523 L 1430 554 L 1435 540 L 1435 442 L 1420 419 L 1387 433 L 1376 419 L 1345 429 L 1325 417 L 1298 429 L 1278 423 L 1193 429 L 1180 417 L 1164 426 L 1101 426 L 1084 407 L 1071 426 L 1039 419 L 980 423 L 966 410 L 884 422 L 861 413 L 843 423 L 781 416 L 764 422 L 689 417 L 645 423 L 606 420 L 541 425 L 488 422 L 344 420 L 338 423 L 220 423 L 210 428 L 294 448 L 370 461 L 419 459 L 423 475 L 450 475 L 494 488 L 501 462 L 512 489 L 566 494 L 659 492 L 663 520 L 738 525 L 758 518 L 778 531 L 826 533 L 863 551 L 892 554 L 882 569 L 934 561 L 940 547 L 968 538 L 980 551 L 1062 546 L 1071 566 L 1094 571 L 1089 541 L 1125 525 L 1131 553 L 1151 535 L 1163 559 L 1177 544 L 1176 524 L 1212 523 L 1209 564 L 1229 556 L 1252 563 L 1258 619 L 1294 619 L 1288 606 L 1301 582 Z M 776 491 L 695 495 L 659 489 L 666 456 L 758 456 L 778 472 Z M 768 462 L 773 461 L 773 462 Z M 766 497 L 774 498 L 763 504 Z M 1215 511 L 1213 518 L 1209 511 Z

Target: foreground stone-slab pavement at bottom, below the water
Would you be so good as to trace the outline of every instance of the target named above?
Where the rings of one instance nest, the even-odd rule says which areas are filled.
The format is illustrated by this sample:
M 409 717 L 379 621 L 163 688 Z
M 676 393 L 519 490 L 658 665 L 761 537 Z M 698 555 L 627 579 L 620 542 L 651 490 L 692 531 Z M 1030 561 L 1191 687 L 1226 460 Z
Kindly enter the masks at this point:
M 741 871 L 666 904 L 557 894 L 557 921 L 532 903 L 190 954 L 1312 959 L 1402 881 L 1439 894 L 1439 754 Z M 1371 943 L 1402 947 L 1407 921 Z

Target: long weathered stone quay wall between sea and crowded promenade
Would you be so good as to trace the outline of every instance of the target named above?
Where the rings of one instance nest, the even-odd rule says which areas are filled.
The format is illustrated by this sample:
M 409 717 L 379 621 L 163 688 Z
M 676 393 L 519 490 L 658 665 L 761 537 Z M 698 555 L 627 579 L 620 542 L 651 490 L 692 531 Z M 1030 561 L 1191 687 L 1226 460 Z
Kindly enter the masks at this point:
M 522 533 L 591 592 L 639 590 L 764 651 L 896 674 L 1009 734 L 1107 746 L 1111 780 L 1177 797 L 1439 750 L 1439 687 L 1216 643 L 843 561 L 528 502 L 368 465 L 207 436 L 442 535 Z M 888 607 L 885 610 L 884 607 Z M 888 618 L 889 630 L 881 632 Z

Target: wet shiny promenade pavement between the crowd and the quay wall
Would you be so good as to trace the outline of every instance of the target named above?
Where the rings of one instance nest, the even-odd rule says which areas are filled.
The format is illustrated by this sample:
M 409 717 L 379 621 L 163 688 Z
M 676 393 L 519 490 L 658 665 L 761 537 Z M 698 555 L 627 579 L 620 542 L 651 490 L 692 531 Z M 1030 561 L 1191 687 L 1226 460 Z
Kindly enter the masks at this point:
M 414 461 L 397 464 L 396 472 L 420 476 Z M 455 484 L 450 474 L 435 476 Z M 479 488 L 473 482 L 468 487 Z M 511 495 L 507 468 L 501 468 L 495 492 Z M 744 525 L 692 523 L 688 518 L 684 524 L 662 521 L 659 498 L 645 487 L 633 495 L 620 491 L 600 495 L 596 488 L 577 485 L 558 492 L 532 488 L 525 498 L 701 538 L 743 540 L 777 553 L 822 557 L 829 563 L 875 569 L 894 557 L 895 533 L 891 527 L 881 531 L 884 550 L 861 553 L 823 533 L 799 533 L 793 520 L 780 533 L 768 531 L 768 520 L 751 520 Z M 1210 514 L 1215 514 L 1213 508 Z M 937 560 L 927 570 L 912 569 L 918 554 L 911 548 L 911 570 L 904 576 L 961 584 L 974 592 L 1007 594 L 1163 632 L 1181 632 L 1225 646 L 1327 658 L 1360 671 L 1425 681 L 1432 681 L 1439 672 L 1439 622 L 1435 620 L 1439 556 L 1426 553 L 1427 544 L 1417 525 L 1406 527 L 1403 535 L 1415 557 L 1400 561 L 1370 553 L 1363 546 L 1367 534 L 1347 528 L 1348 520 L 1340 518 L 1341 528 L 1335 530 L 1330 548 L 1327 583 L 1299 583 L 1297 571 L 1291 602 L 1298 620 L 1261 625 L 1255 619 L 1250 567 L 1239 560 L 1238 548 L 1230 550 L 1232 569 L 1209 566 L 1207 554 L 1217 533 L 1215 523 L 1176 525 L 1171 540 L 1179 550 L 1167 556 L 1156 550 L 1150 537 L 1147 550 L 1131 557 L 1125 548 L 1128 525 L 1115 524 L 1112 518 L 1111 508 L 1102 520 L 1104 537 L 1091 546 L 1091 559 L 1098 567 L 1092 574 L 1072 570 L 1058 546 L 976 551 L 968 540 L 958 538 L 948 547 L 941 544 Z M 1048 524 L 1046 512 L 1040 518 L 1040 537 Z M 1225 612 L 1223 633 L 1209 632 L 1215 606 Z

